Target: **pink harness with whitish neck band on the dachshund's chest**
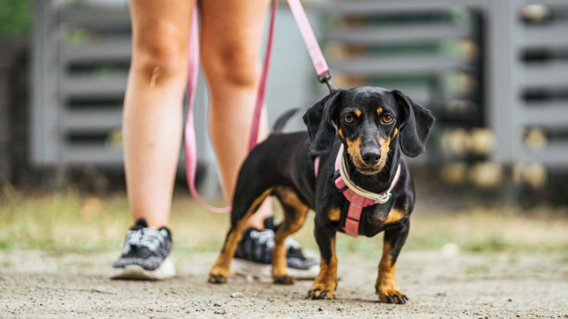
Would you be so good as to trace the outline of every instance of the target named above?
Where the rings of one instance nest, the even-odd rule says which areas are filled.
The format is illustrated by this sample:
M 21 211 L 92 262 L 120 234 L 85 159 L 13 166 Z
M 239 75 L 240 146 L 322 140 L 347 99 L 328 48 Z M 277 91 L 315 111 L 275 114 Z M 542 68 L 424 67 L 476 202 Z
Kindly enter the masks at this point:
M 353 184 L 353 181 L 349 178 L 348 173 L 345 170 L 345 160 L 344 160 L 344 146 L 341 144 L 339 147 L 339 152 L 337 152 L 337 157 L 335 158 L 335 187 L 343 193 L 345 198 L 349 201 L 349 209 L 347 211 L 347 217 L 345 219 L 345 225 L 343 230 L 349 236 L 357 237 L 359 235 L 359 219 L 361 219 L 361 212 L 363 208 L 367 206 L 372 206 L 379 203 L 386 203 L 390 196 L 392 188 L 395 188 L 397 181 L 399 181 L 401 173 L 401 165 L 397 166 L 397 172 L 395 173 L 395 178 L 392 179 L 392 183 L 388 190 L 376 194 L 374 192 L 368 192 L 363 188 Z M 319 170 L 319 156 L 314 159 L 314 172 L 315 177 L 317 177 L 317 172 Z

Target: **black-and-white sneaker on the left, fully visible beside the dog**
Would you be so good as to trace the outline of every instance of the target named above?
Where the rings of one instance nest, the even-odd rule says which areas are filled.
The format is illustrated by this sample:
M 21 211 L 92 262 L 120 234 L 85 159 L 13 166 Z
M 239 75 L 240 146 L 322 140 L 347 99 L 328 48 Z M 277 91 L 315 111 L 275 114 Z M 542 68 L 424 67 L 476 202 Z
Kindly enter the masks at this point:
M 112 263 L 112 279 L 160 280 L 176 274 L 171 251 L 171 232 L 149 228 L 144 219 L 126 234 L 123 254 Z

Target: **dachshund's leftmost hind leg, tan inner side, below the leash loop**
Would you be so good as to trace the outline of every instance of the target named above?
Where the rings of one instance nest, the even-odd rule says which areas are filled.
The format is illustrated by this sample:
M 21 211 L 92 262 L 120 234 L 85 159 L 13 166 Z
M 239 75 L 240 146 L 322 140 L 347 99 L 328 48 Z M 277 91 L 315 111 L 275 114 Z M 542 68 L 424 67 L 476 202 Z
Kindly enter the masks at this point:
M 239 189 L 239 188 L 237 188 Z M 241 188 L 244 190 L 244 188 Z M 268 188 L 259 196 L 250 196 L 250 194 L 240 194 L 235 192 L 235 201 L 233 201 L 233 210 L 231 211 L 231 229 L 227 234 L 223 248 L 215 265 L 211 268 L 209 273 L 209 283 L 227 283 L 229 277 L 229 270 L 231 260 L 235 256 L 235 250 L 241 239 L 242 225 L 249 219 L 251 214 L 254 214 L 260 207 L 264 199 L 271 195 L 272 188 Z

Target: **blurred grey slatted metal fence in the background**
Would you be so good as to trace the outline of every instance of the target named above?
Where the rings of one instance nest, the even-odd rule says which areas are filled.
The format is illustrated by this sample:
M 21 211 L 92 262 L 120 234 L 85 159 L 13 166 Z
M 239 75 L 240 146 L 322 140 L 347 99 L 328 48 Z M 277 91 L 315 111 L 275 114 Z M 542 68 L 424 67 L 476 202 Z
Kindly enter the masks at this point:
M 35 164 L 121 166 L 121 104 L 131 47 L 126 4 L 116 3 L 36 1 Z M 322 30 L 317 33 L 335 85 L 401 88 L 436 113 L 433 142 L 421 162 L 568 167 L 567 1 L 310 4 L 308 15 Z M 315 100 L 309 60 L 289 12 L 280 10 L 279 19 L 271 118 Z M 204 104 L 200 87 L 198 104 Z M 197 116 L 204 119 L 204 111 Z M 297 121 L 295 127 L 302 125 Z M 211 162 L 207 143 L 198 144 L 202 162 Z

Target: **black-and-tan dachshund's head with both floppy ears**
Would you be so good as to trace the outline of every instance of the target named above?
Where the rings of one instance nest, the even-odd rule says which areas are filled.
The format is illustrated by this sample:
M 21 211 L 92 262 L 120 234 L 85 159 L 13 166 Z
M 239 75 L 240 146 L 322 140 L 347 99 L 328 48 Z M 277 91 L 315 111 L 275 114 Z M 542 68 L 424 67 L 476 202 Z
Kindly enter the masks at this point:
M 330 151 L 335 126 L 353 164 L 360 173 L 379 173 L 399 136 L 404 154 L 417 157 L 434 117 L 402 91 L 356 87 L 333 91 L 304 114 L 313 155 Z M 335 124 L 335 126 L 334 126 Z

